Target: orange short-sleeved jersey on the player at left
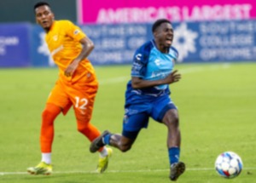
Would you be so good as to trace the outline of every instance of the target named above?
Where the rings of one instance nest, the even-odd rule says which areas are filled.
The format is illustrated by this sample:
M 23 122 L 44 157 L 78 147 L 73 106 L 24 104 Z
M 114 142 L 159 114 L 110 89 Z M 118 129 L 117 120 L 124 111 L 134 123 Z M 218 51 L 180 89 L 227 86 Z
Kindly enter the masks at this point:
M 45 41 L 49 52 L 60 69 L 60 79 L 65 83 L 92 82 L 90 78 L 88 80 L 88 77 L 96 78 L 88 59 L 80 61 L 72 77 L 64 75 L 67 66 L 80 54 L 82 45 L 79 41 L 84 37 L 86 35 L 79 26 L 75 26 L 69 20 L 55 20 L 46 34 Z

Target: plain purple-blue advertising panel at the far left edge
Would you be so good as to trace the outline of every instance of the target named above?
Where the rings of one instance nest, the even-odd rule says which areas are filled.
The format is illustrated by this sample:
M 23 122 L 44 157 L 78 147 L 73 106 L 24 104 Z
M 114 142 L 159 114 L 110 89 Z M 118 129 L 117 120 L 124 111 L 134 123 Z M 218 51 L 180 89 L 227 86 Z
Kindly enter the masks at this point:
M 29 24 L 0 25 L 0 67 L 31 66 Z

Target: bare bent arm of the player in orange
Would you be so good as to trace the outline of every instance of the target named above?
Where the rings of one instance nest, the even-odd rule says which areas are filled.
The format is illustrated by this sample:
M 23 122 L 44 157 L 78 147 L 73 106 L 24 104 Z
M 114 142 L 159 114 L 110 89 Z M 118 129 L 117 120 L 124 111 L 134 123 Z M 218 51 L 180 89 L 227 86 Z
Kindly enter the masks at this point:
M 81 53 L 77 58 L 71 62 L 69 66 L 67 66 L 67 69 L 65 70 L 65 76 L 71 77 L 73 75 L 73 72 L 77 69 L 79 66 L 79 62 L 86 58 L 90 52 L 94 49 L 94 43 L 90 40 L 89 37 L 84 37 L 80 40 L 80 43 L 83 44 L 83 49 L 81 50 Z

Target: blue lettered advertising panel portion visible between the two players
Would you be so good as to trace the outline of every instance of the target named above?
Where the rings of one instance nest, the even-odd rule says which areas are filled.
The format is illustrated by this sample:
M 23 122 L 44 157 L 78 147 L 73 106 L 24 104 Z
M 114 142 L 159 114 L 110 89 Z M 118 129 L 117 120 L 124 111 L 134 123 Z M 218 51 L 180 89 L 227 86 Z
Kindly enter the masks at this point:
M 93 64 L 128 64 L 134 51 L 151 37 L 148 24 L 86 25 L 82 30 L 94 42 Z

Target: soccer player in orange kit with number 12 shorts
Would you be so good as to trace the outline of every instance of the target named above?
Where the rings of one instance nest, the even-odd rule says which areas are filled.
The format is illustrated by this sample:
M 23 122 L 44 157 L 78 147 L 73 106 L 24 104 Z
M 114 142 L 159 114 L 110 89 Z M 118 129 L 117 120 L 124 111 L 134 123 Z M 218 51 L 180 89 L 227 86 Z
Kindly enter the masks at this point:
M 98 89 L 96 73 L 87 56 L 94 44 L 79 26 L 69 20 L 55 20 L 49 3 L 39 2 L 34 6 L 36 20 L 46 32 L 45 41 L 49 52 L 59 67 L 59 79 L 51 90 L 42 113 L 40 145 L 42 160 L 36 167 L 27 169 L 30 174 L 51 174 L 51 147 L 54 139 L 54 121 L 61 112 L 67 114 L 71 106 L 77 120 L 77 128 L 90 141 L 100 136 L 100 131 L 90 123 Z M 103 146 L 97 172 L 108 167 L 112 149 Z

